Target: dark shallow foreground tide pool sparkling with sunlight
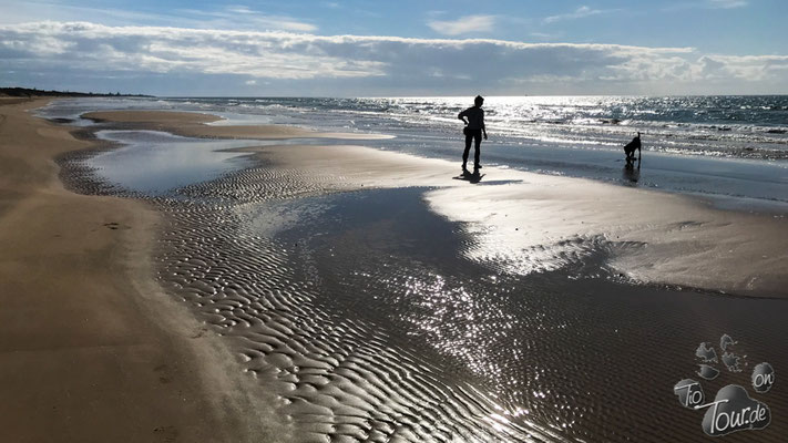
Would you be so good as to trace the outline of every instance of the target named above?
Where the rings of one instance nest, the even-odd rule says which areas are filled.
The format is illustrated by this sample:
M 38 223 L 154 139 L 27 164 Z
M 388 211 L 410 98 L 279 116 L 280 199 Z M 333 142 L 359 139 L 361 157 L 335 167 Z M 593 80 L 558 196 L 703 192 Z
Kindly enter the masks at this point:
M 695 341 L 706 331 L 744 331 L 753 362 L 786 356 L 774 340 L 788 313 L 782 300 L 632 287 L 600 272 L 604 249 L 523 279 L 463 259 L 473 236 L 430 214 L 423 193 L 317 197 L 266 207 L 257 219 L 298 213 L 299 225 L 274 236 L 298 244 L 295 260 L 319 279 L 335 311 L 391 331 L 390 341 L 420 356 L 438 352 L 429 359 L 473 380 L 523 429 L 535 422 L 585 441 L 693 440 L 697 418 L 680 418 L 661 387 L 676 372 L 694 374 Z M 327 224 L 338 228 L 326 231 Z M 746 385 L 749 374 L 737 375 L 725 382 Z M 784 395 L 764 400 L 775 414 L 785 411 Z M 675 425 L 649 430 L 656 419 Z

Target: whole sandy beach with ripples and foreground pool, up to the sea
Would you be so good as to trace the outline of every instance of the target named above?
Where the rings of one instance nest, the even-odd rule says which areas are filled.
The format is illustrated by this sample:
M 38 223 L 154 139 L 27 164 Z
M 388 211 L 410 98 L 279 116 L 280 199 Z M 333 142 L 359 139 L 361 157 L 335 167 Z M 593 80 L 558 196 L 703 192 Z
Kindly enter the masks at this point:
M 253 167 L 155 198 L 113 196 L 66 156 L 74 190 L 110 194 L 80 195 L 53 159 L 90 144 L 38 105 L 0 106 L 14 440 L 702 441 L 672 392 L 698 342 L 728 332 L 753 364 L 787 361 L 785 218 L 503 168 L 471 185 L 446 161 L 319 142 L 237 148 Z M 749 374 L 727 377 L 707 395 Z M 760 399 L 770 426 L 726 440 L 788 433 L 788 391 Z

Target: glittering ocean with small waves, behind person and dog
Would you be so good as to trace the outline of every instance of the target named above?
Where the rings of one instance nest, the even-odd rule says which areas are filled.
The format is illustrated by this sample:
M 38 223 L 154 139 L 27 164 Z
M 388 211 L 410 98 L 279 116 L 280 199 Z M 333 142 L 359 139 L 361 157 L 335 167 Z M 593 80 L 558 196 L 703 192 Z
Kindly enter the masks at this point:
M 74 121 L 102 109 L 209 112 L 217 124 L 289 124 L 330 132 L 382 133 L 350 142 L 458 161 L 472 97 L 73 99 L 42 116 Z M 693 194 L 724 207 L 785 213 L 788 204 L 788 95 L 490 96 L 482 164 Z M 637 176 L 622 147 L 642 134 Z M 321 143 L 325 143 L 321 142 Z M 342 141 L 341 143 L 348 143 Z

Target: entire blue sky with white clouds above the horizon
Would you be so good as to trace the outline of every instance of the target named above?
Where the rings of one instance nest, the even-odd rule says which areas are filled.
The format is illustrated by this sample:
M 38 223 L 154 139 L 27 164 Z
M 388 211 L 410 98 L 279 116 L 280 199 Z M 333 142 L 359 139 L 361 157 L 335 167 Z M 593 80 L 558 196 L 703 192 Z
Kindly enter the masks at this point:
M 788 1 L 0 0 L 0 86 L 165 96 L 788 93 Z

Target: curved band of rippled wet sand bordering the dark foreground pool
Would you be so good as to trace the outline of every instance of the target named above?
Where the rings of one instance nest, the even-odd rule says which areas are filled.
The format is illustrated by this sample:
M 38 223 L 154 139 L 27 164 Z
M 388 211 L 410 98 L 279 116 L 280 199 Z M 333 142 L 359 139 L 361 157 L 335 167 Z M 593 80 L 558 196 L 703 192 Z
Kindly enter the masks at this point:
M 284 412 L 308 440 L 554 440 L 499 415 L 473 384 L 375 323 L 332 311 L 320 281 L 294 265 L 298 247 L 259 236 L 238 215 L 260 202 L 342 187 L 260 167 L 162 199 L 173 223 L 161 240 L 163 285 L 235 339 L 247 371 L 275 381 Z

